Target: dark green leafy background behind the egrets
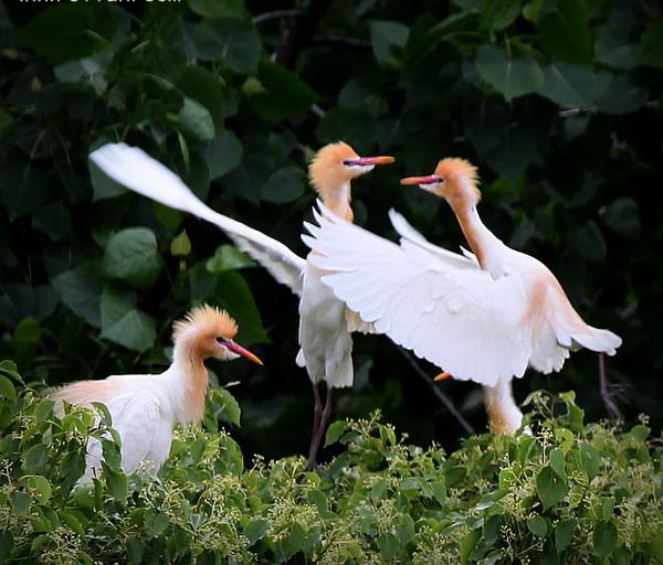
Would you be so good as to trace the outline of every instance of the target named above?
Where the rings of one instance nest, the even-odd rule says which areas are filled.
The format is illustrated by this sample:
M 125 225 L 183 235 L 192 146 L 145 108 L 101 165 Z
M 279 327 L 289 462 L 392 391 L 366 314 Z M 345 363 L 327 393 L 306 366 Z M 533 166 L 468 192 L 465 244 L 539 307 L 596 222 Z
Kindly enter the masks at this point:
M 659 6 L 336 0 L 286 68 L 272 55 L 306 19 L 271 11 L 309 6 L 0 3 L 3 356 L 50 384 L 156 372 L 168 361 L 170 322 L 196 301 L 214 302 L 266 361 L 210 364 L 214 383 L 242 376 L 238 440 L 248 452 L 301 452 L 311 398 L 294 363 L 295 298 L 243 268 L 213 226 L 128 193 L 87 154 L 107 141 L 140 146 L 212 207 L 305 254 L 301 224 L 315 196 L 307 160 L 343 138 L 397 157 L 354 184 L 356 221 L 389 237 L 396 207 L 456 249 L 448 206 L 397 181 L 444 156 L 478 164 L 485 223 L 549 265 L 588 322 L 623 337 L 609 363 L 625 387 L 620 407 L 631 423 L 651 414 L 660 429 Z M 357 383 L 337 395 L 337 414 L 380 407 L 417 443 L 456 445 L 462 429 L 386 339 L 357 338 L 355 352 Z M 483 429 L 477 387 L 441 386 Z M 518 398 L 572 388 L 591 419 L 606 416 L 588 352 L 560 375 L 515 386 Z M 381 542 L 387 552 L 391 541 Z

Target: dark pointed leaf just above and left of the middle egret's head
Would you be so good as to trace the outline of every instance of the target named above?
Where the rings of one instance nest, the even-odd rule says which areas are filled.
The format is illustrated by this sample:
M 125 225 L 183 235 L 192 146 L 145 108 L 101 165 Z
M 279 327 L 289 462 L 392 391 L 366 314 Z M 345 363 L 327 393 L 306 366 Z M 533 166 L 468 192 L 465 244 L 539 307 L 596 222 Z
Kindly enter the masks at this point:
M 271 61 L 260 62 L 259 76 L 261 88 L 249 104 L 267 121 L 301 117 L 319 98 L 298 75 Z

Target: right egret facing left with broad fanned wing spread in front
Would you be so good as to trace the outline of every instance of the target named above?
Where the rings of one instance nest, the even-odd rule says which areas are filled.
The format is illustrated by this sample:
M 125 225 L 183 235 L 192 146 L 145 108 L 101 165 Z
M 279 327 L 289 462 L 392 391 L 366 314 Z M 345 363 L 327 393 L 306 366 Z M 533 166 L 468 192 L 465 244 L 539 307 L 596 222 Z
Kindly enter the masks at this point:
M 511 382 L 528 365 L 559 371 L 585 347 L 613 355 L 621 339 L 585 323 L 559 281 L 539 260 L 512 249 L 483 224 L 476 169 L 443 159 L 427 177 L 403 179 L 443 198 L 473 253 L 429 243 L 390 211 L 400 245 L 351 225 L 322 206 L 320 227 L 306 225 L 322 281 L 362 320 L 455 379 L 485 387 L 495 433 L 514 433 L 523 414 Z

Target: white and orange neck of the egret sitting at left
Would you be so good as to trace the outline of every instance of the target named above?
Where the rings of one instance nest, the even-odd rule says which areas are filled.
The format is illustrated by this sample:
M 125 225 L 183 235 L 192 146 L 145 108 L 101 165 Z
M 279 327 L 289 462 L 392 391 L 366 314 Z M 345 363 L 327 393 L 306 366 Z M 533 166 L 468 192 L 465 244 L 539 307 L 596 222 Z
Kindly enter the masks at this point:
M 204 412 L 204 397 L 210 384 L 210 376 L 204 366 L 207 355 L 196 347 L 196 340 L 183 340 L 175 344 L 172 364 L 178 383 L 176 386 L 183 397 L 183 411 L 178 418 L 180 424 L 198 423 Z

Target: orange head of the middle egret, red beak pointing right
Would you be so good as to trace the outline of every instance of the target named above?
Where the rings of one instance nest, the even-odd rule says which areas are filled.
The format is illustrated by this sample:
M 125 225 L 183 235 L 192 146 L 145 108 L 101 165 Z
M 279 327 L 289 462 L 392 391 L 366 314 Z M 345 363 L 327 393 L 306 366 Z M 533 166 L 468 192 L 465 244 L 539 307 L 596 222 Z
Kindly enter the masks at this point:
M 352 179 L 372 171 L 376 164 L 393 161 L 393 157 L 359 157 L 348 143 L 337 141 L 316 153 L 308 167 L 308 177 L 323 200 L 330 201 L 347 192 L 346 186 Z

